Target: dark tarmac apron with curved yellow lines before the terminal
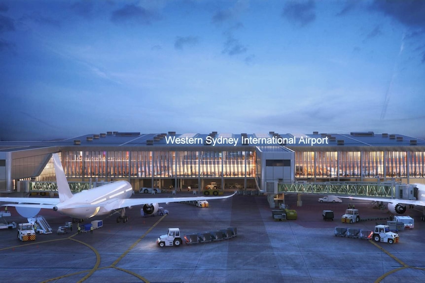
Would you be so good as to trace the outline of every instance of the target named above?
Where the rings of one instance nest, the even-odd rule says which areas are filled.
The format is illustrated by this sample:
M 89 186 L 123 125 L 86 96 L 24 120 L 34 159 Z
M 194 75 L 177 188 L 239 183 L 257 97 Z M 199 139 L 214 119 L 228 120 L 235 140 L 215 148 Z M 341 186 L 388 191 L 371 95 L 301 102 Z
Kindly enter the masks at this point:
M 156 197 L 159 194 L 155 195 Z M 171 194 L 161 193 L 165 198 Z M 174 195 L 173 195 L 174 196 Z M 178 192 L 177 196 L 192 196 Z M 398 232 L 392 245 L 335 237 L 334 228 L 372 230 L 376 220 L 340 222 L 348 204 L 359 209 L 361 218 L 389 217 L 386 210 L 368 201 L 343 200 L 319 203 L 322 195 L 285 195 L 285 204 L 297 211 L 297 220 L 275 221 L 266 196 L 235 195 L 211 200 L 208 208 L 184 203 L 160 204 L 165 216 L 142 217 L 141 207 L 127 209 L 126 223 L 116 215 L 93 218 L 103 227 L 93 234 L 57 234 L 70 218 L 41 210 L 53 229 L 51 234 L 21 242 L 16 229 L 0 230 L 1 281 L 57 283 L 371 283 L 423 282 L 425 278 L 425 223 L 422 213 L 409 210 L 415 228 Z M 153 197 L 136 193 L 134 197 Z M 322 210 L 333 210 L 333 221 L 322 219 Z M 26 222 L 9 207 L 8 221 Z M 86 221 L 88 222 L 88 221 Z M 386 220 L 379 221 L 386 222 Z M 180 247 L 156 245 L 169 227 L 182 234 L 237 228 L 237 236 L 210 243 Z M 421 248 L 422 247 L 422 248 Z

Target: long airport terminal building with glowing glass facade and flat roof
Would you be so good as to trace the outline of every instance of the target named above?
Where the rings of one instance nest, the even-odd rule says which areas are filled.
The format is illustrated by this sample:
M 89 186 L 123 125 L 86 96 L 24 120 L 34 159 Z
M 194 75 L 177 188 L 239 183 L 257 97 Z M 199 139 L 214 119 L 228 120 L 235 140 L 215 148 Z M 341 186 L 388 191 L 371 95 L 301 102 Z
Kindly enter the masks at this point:
M 141 187 L 257 189 L 267 182 L 424 182 L 425 140 L 401 134 L 106 132 L 65 140 L 0 142 L 0 193 L 54 182 L 60 153 L 70 182 Z

